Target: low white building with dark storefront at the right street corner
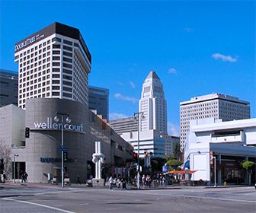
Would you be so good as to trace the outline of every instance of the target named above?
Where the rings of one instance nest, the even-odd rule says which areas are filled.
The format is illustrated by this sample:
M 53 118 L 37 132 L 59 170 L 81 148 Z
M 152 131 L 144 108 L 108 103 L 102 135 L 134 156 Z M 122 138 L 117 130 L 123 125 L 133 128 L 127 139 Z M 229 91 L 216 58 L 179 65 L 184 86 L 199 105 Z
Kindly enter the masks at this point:
M 242 169 L 245 161 L 256 162 L 256 119 L 222 122 L 221 119 L 190 121 L 184 148 L 184 161 L 196 170 L 192 181 L 248 184 L 248 173 Z M 216 157 L 216 164 L 211 160 Z M 251 179 L 254 182 L 255 176 Z

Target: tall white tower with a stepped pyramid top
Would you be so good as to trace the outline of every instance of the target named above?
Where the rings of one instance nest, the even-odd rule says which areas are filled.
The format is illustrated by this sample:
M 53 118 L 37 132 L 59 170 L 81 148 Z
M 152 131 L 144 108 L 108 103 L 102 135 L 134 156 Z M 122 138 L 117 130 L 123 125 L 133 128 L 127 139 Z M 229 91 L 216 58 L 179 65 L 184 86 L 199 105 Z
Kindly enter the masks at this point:
M 154 71 L 150 72 L 142 85 L 139 112 L 143 112 L 145 119 L 141 122 L 141 131 L 159 130 L 167 134 L 167 106 L 163 85 Z

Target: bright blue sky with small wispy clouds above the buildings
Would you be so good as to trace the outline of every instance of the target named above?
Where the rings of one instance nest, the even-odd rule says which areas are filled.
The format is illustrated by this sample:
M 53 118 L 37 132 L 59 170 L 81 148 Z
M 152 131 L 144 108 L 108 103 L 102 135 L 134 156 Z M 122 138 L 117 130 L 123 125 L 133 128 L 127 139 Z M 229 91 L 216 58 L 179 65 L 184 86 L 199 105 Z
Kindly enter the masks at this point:
M 255 117 L 254 1 L 1 1 L 0 68 L 18 72 L 14 43 L 58 21 L 91 52 L 89 84 L 110 89 L 110 118 L 139 110 L 154 70 L 164 85 L 168 133 L 179 103 L 219 92 L 251 102 Z

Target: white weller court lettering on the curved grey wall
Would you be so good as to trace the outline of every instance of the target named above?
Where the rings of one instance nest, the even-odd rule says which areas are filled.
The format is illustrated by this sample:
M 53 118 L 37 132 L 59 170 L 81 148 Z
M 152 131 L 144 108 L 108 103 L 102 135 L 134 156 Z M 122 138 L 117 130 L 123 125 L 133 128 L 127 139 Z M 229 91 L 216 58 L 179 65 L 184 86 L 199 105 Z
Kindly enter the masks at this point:
M 35 129 L 62 129 L 62 123 L 54 122 L 51 117 L 47 118 L 46 122 L 34 122 Z M 73 125 L 69 123 L 63 123 L 63 129 L 74 131 L 74 132 L 84 132 L 82 123 L 81 125 Z

